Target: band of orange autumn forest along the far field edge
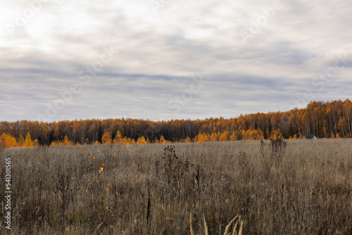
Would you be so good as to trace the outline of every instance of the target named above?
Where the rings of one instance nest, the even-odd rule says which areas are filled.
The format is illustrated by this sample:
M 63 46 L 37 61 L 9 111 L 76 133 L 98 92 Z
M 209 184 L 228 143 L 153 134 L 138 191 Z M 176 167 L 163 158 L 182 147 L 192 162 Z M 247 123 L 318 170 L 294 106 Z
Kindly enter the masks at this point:
M 0 122 L 0 146 L 73 144 L 147 144 L 241 139 L 351 138 L 352 103 L 312 101 L 306 108 L 287 112 L 252 113 L 237 118 L 151 121 L 120 118 Z

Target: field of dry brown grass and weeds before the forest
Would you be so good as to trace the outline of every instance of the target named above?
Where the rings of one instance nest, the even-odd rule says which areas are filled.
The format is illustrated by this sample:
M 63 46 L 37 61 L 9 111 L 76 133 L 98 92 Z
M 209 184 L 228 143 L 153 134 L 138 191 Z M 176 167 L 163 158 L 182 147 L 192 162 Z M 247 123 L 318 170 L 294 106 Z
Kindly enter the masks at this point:
M 11 234 L 352 234 L 351 139 L 8 148 L 1 189 L 5 158 Z

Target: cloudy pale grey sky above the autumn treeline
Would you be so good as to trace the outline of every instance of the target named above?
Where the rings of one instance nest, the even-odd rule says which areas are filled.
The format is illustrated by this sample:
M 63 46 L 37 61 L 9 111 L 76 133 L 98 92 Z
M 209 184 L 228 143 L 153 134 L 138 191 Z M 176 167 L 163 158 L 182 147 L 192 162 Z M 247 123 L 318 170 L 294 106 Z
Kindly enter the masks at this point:
M 351 99 L 349 0 L 0 0 L 0 121 L 232 118 Z

